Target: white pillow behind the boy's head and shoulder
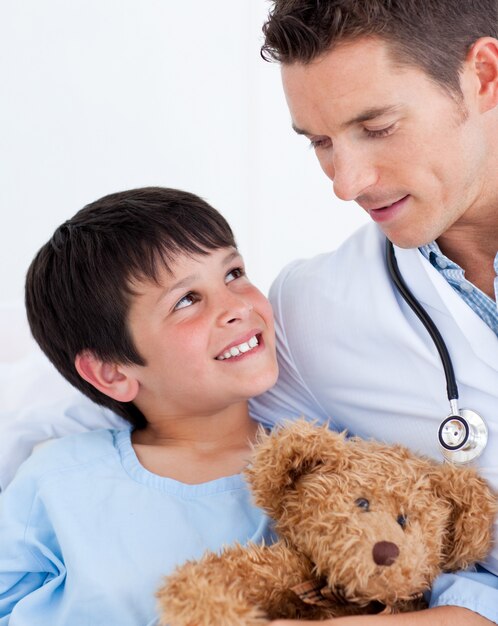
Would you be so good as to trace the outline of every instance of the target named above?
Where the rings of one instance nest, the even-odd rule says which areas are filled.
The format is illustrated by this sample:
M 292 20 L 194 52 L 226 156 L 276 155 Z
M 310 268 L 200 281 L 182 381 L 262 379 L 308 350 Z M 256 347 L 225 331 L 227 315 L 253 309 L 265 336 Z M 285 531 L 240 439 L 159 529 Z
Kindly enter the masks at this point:
M 127 424 L 59 374 L 32 339 L 21 303 L 0 304 L 0 491 L 35 445 Z

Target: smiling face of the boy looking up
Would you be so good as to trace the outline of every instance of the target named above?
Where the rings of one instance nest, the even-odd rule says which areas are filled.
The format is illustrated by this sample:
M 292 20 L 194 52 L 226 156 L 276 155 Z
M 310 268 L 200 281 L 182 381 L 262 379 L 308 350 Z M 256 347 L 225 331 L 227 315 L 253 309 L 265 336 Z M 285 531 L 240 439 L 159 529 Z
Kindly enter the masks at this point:
M 212 414 L 271 387 L 273 315 L 232 248 L 181 254 L 158 281 L 134 281 L 128 324 L 145 365 L 124 366 L 152 420 Z

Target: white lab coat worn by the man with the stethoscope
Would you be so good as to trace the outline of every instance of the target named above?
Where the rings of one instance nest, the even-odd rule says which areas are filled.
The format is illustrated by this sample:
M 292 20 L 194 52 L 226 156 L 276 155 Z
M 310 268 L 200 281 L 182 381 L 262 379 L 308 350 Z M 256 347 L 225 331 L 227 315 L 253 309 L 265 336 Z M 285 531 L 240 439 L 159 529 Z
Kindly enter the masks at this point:
M 418 249 L 395 248 L 408 287 L 442 334 L 460 407 L 480 413 L 489 442 L 477 464 L 498 490 L 498 338 Z M 440 357 L 390 280 L 385 238 L 368 224 L 336 252 L 289 265 L 271 289 L 280 378 L 252 402 L 267 421 L 304 414 L 442 460 L 449 413 Z M 498 530 L 498 528 L 497 528 Z M 487 564 L 498 574 L 498 545 Z

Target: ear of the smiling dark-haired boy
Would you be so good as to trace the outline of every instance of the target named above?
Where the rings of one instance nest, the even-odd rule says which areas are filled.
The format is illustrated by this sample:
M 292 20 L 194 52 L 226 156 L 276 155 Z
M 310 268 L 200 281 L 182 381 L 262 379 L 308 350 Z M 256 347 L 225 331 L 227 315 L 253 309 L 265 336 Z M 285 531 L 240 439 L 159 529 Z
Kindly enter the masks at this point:
M 138 381 L 117 363 L 107 363 L 91 352 L 81 352 L 76 355 L 74 366 L 81 378 L 114 400 L 132 402 L 137 396 Z

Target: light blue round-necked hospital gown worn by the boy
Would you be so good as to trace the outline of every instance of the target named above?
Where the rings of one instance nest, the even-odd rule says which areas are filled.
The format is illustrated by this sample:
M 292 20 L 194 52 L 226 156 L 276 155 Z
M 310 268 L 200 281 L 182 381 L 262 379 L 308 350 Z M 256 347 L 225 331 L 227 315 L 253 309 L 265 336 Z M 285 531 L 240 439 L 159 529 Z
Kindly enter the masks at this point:
M 241 475 L 186 485 L 144 469 L 129 429 L 68 436 L 0 495 L 0 625 L 146 626 L 175 565 L 263 538 Z

